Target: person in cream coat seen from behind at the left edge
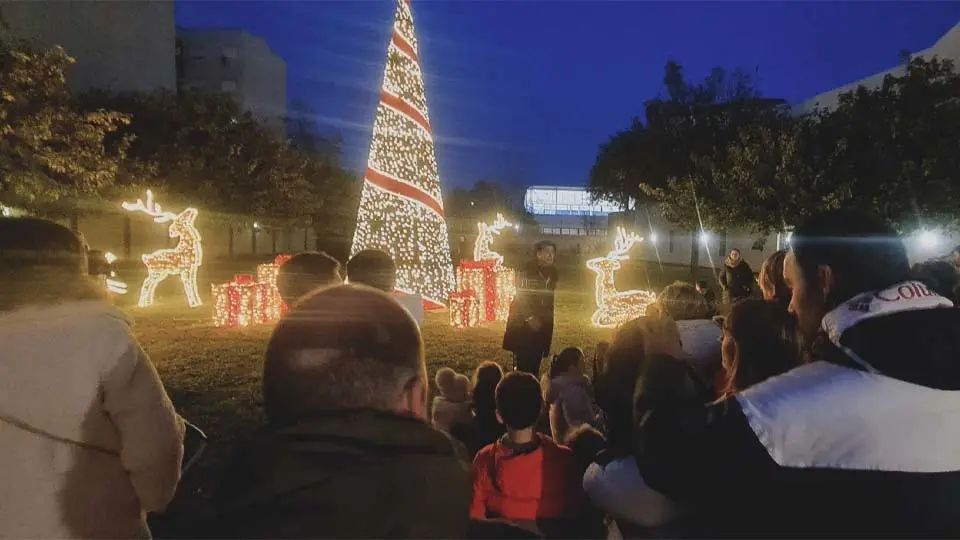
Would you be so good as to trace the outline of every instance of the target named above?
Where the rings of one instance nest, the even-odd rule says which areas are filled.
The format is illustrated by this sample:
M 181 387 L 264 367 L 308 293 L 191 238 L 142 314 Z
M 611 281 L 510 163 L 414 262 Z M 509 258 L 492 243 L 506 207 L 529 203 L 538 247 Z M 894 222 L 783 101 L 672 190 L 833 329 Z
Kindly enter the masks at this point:
M 184 424 L 76 234 L 0 219 L 0 537 L 149 538 Z

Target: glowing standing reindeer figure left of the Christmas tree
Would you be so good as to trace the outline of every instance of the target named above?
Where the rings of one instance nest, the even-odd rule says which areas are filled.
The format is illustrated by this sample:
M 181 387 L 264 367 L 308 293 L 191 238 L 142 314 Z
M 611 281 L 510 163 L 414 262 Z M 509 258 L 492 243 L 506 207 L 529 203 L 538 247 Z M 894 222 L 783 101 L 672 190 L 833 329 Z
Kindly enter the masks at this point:
M 203 302 L 197 291 L 197 269 L 203 262 L 203 248 L 200 244 L 200 233 L 193 225 L 197 219 L 197 209 L 187 208 L 179 214 L 163 212 L 159 204 L 154 204 L 153 193 L 149 190 L 146 204 L 137 199 L 136 204 L 123 203 L 123 208 L 152 216 L 156 223 L 170 223 L 170 238 L 179 239 L 173 249 L 158 249 L 141 256 L 144 266 L 147 267 L 147 277 L 140 288 L 140 307 L 153 304 L 157 285 L 173 275 L 183 282 L 183 292 L 187 295 L 190 307 L 201 305 Z

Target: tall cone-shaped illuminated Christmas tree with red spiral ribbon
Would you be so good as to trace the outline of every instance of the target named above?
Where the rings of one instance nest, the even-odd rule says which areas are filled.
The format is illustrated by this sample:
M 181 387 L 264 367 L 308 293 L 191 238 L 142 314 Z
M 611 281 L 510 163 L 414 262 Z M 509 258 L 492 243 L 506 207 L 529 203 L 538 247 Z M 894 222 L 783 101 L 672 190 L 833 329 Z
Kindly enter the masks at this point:
M 353 253 L 379 249 L 397 263 L 397 289 L 446 304 L 453 263 L 440 175 L 409 0 L 397 0 Z

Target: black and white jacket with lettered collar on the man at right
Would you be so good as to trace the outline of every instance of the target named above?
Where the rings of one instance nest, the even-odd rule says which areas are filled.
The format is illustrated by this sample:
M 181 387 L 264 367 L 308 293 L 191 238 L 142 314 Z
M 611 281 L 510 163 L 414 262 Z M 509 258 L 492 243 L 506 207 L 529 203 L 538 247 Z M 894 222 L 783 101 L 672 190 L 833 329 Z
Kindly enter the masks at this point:
M 951 305 L 915 282 L 860 295 L 824 318 L 816 361 L 706 408 L 671 393 L 681 366 L 651 364 L 635 395 L 641 475 L 715 536 L 960 536 Z

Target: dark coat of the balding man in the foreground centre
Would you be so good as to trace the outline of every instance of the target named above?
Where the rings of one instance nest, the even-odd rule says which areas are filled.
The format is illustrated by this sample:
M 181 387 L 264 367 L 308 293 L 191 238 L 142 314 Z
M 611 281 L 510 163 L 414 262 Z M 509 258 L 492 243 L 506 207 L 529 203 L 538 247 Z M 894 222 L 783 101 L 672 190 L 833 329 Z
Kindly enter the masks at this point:
M 210 532 L 222 538 L 464 538 L 471 499 L 465 457 L 444 433 L 390 413 L 333 412 L 268 428 L 224 476 L 225 496 Z

